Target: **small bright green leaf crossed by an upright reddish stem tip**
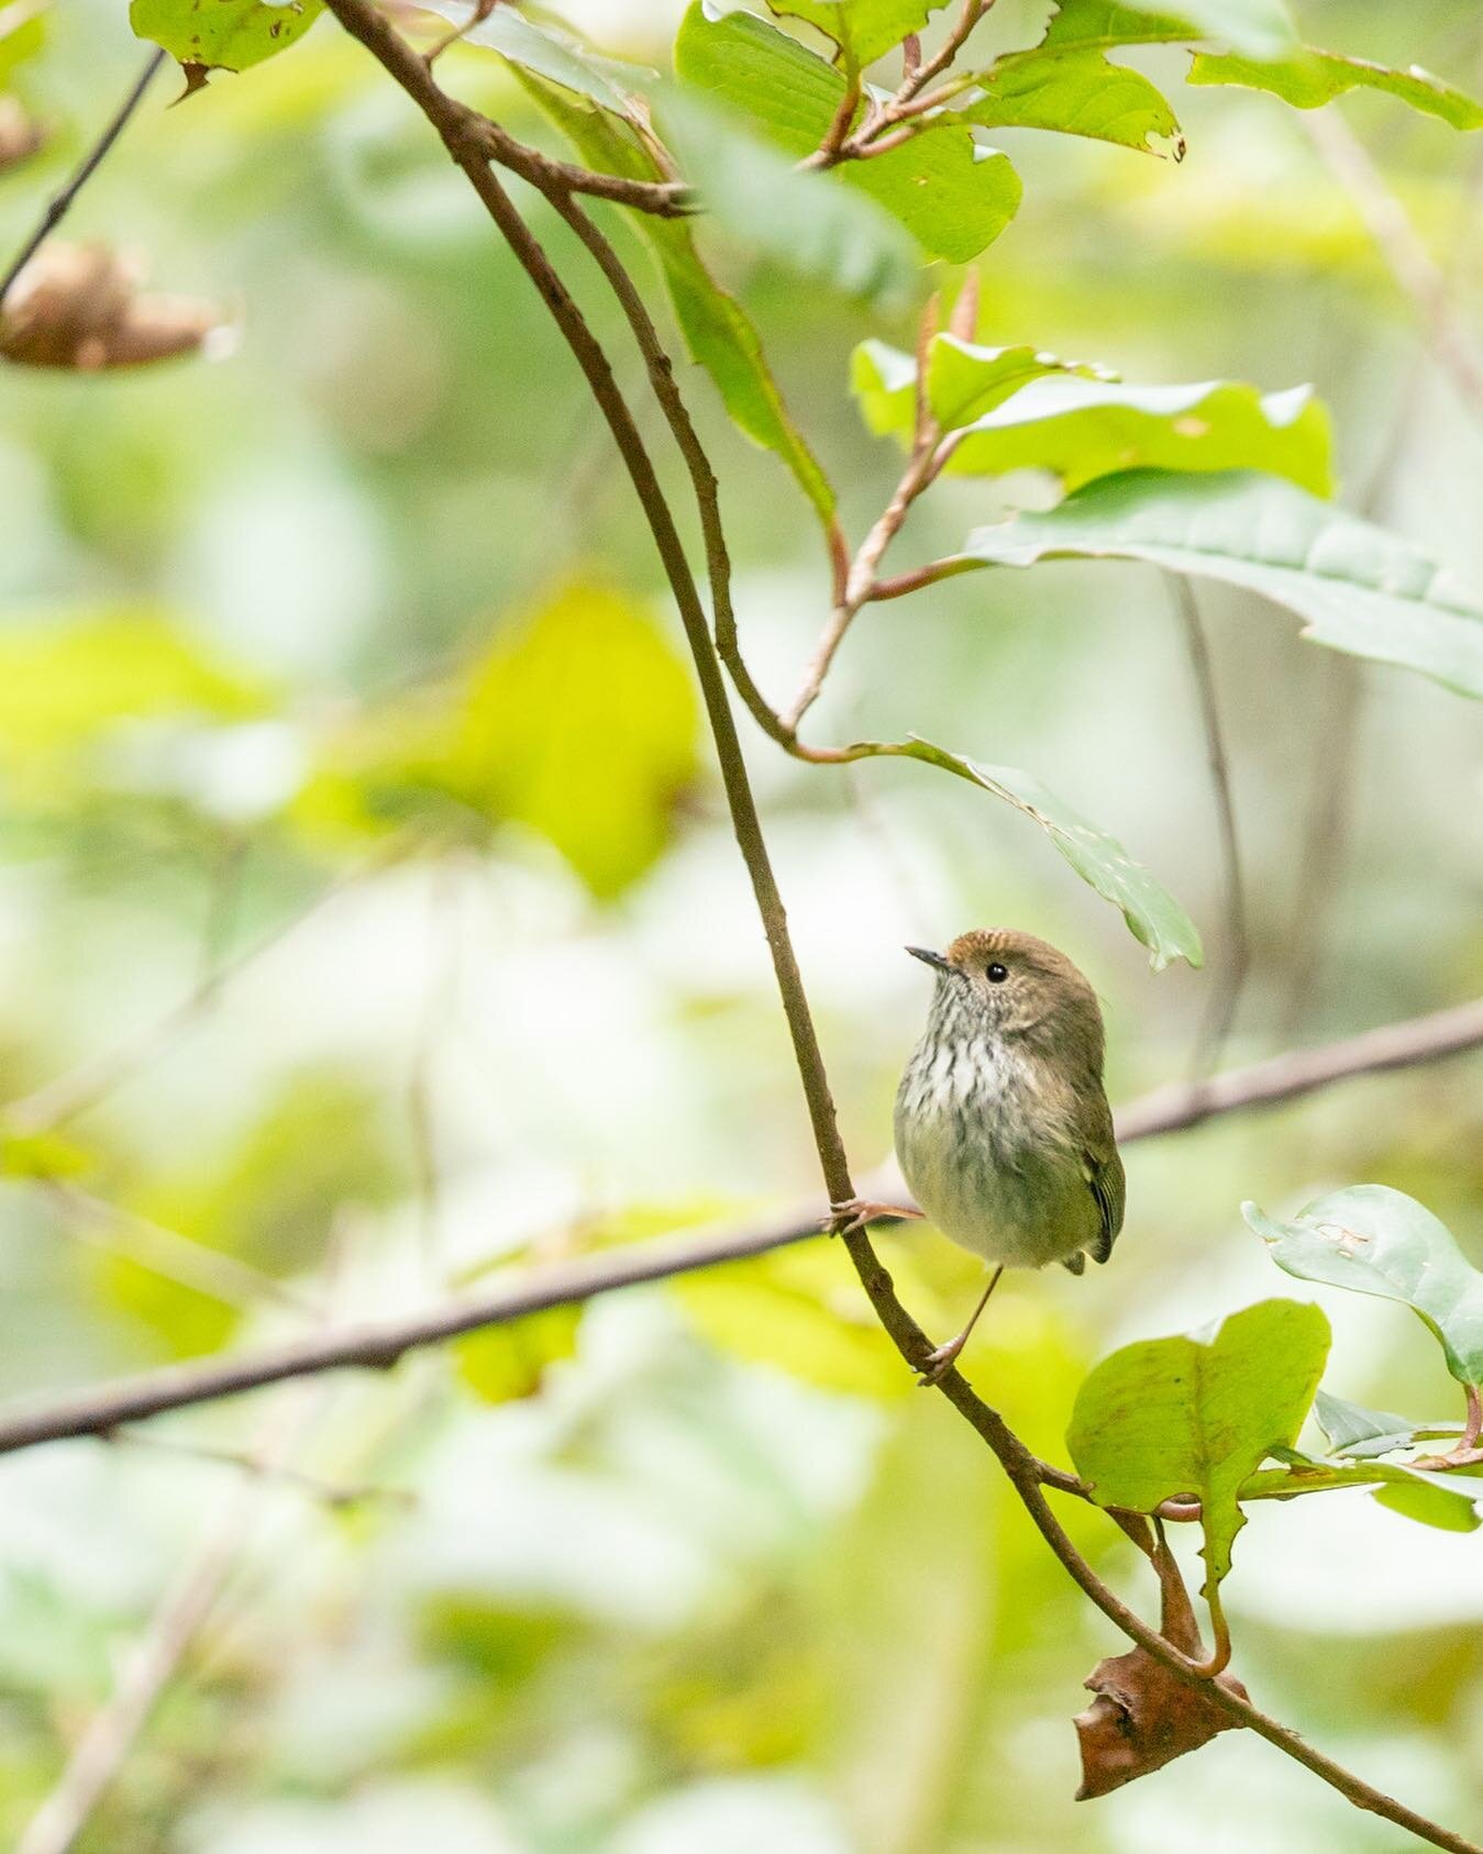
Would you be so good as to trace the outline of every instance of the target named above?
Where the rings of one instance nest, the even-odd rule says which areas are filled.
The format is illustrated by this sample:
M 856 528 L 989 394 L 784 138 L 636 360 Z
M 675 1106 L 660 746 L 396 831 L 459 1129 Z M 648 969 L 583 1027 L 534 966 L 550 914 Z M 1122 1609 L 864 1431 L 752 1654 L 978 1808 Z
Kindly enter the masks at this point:
M 988 349 L 938 334 L 927 349 L 927 402 L 938 425 L 955 432 L 1003 404 L 1027 382 L 1055 373 L 1110 378 L 1105 367 L 1057 360 L 1033 347 Z M 866 425 L 879 438 L 894 436 L 910 447 L 916 436 L 916 356 L 884 341 L 862 341 L 851 356 L 849 384 Z

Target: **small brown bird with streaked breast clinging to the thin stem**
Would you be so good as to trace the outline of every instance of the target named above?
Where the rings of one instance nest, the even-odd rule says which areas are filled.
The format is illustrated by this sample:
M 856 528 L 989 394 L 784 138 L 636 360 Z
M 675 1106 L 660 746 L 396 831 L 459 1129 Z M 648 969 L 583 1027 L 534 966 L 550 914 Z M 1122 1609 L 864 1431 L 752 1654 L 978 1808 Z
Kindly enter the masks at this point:
M 1105 1263 L 1123 1224 L 1123 1166 L 1103 1090 L 1103 1023 L 1083 973 L 1007 927 L 960 934 L 936 970 L 927 1029 L 895 1096 L 895 1157 L 919 1211 L 851 1200 L 836 1227 L 929 1216 L 994 1264 L 968 1326 L 927 1361 L 936 1383 L 1005 1268 Z

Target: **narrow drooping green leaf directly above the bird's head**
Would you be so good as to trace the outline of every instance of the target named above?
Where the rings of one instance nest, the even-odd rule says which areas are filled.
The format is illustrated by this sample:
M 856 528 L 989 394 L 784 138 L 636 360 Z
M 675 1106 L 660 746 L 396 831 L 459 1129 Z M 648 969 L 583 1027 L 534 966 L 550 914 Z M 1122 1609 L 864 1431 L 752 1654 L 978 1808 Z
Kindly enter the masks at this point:
M 1033 818 L 1077 875 L 1122 908 L 1134 938 L 1149 949 L 1155 971 L 1162 971 L 1172 959 L 1188 960 L 1190 966 L 1205 962 L 1199 933 L 1173 895 L 1129 857 L 1116 836 L 1047 792 L 1033 773 L 1021 773 L 1016 766 L 981 766 L 968 755 L 949 753 L 916 736 L 875 745 L 873 751 L 940 766 Z

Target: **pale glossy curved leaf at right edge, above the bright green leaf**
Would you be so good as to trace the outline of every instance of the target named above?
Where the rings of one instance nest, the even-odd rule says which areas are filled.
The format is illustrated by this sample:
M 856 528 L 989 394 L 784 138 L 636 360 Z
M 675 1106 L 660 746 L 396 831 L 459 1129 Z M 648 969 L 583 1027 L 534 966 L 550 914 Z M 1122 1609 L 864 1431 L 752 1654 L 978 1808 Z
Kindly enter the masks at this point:
M 1255 1203 L 1244 1203 L 1242 1216 L 1299 1281 L 1405 1302 L 1440 1339 L 1451 1376 L 1483 1383 L 1483 1274 L 1426 1205 L 1388 1185 L 1350 1185 L 1290 1224 Z

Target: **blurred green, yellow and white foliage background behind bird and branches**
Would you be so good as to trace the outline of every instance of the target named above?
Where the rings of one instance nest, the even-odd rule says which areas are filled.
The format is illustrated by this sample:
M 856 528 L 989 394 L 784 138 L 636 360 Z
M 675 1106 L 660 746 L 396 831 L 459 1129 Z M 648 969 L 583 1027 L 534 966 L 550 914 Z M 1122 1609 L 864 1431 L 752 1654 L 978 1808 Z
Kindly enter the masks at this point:
M 1314 43 L 1483 82 L 1476 6 L 1299 11 Z M 569 7 L 656 65 L 675 13 Z M 0 248 L 139 61 L 120 6 L 54 9 L 15 78 L 54 141 L 0 180 Z M 982 339 L 1131 380 L 1312 380 L 1346 501 L 1483 582 L 1479 406 L 1303 119 L 1185 89 L 1179 54 L 1136 61 L 1170 80 L 1188 158 L 1003 135 L 1027 197 L 979 263 Z M 497 59 L 458 70 L 547 135 Z M 133 376 L 0 373 L 13 1396 L 410 1309 L 816 1185 L 677 623 L 545 311 L 332 20 L 169 109 L 172 85 L 70 234 L 226 304 L 235 350 Z M 1479 148 L 1385 98 L 1346 117 L 1483 343 Z M 602 293 L 525 204 L 641 399 Z M 858 538 L 897 465 L 851 406 L 849 350 L 910 345 L 910 306 L 894 319 L 740 247 L 716 258 Z M 780 695 L 825 616 L 818 536 L 710 384 L 686 387 L 743 641 Z M 1001 504 L 947 480 L 901 564 Z M 1477 710 L 1316 649 L 1253 599 L 1205 588 L 1201 610 L 1253 949 L 1223 1059 L 1476 996 Z M 886 1149 L 925 1009 L 903 940 L 1042 933 L 1105 999 L 1114 1099 L 1186 1075 L 1229 938 L 1159 575 L 975 575 L 868 610 L 818 734 L 906 730 L 1025 766 L 1112 829 L 1196 914 L 1210 964 L 1153 975 L 1038 832 L 966 784 L 816 771 L 749 736 L 856 1161 Z M 1470 1057 L 1129 1148 L 1114 1266 L 1010 1281 L 970 1376 L 1064 1459 L 1097 1355 L 1301 1292 L 1335 1322 L 1329 1389 L 1453 1416 L 1405 1309 L 1288 1283 L 1236 1207 L 1375 1179 L 1483 1263 L 1477 1081 Z M 37 1125 L 44 1140 L 20 1137 Z M 975 1264 L 931 1231 L 881 1240 L 947 1331 Z M 1147 1606 L 1116 1531 L 1071 1518 Z M 1268 1709 L 1420 1808 L 1479 1821 L 1476 1537 L 1364 1494 L 1257 1509 L 1227 1591 Z M 1407 1845 L 1242 1733 L 1071 1802 L 1070 1715 L 1118 1644 L 968 1429 L 912 1390 L 823 1242 L 0 1461 L 6 1845 L 161 1635 L 174 1678 L 85 1854 Z

